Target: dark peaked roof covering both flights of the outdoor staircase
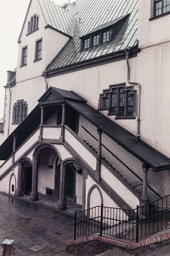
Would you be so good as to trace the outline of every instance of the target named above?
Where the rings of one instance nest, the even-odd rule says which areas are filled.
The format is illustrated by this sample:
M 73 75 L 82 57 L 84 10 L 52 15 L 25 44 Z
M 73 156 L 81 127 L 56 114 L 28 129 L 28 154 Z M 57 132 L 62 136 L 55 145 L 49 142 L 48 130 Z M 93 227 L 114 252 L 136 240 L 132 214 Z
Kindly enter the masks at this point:
M 53 95 L 52 95 L 53 94 Z M 50 101 L 53 99 L 52 101 Z M 55 105 L 66 102 L 67 105 L 80 113 L 80 115 L 87 118 L 93 125 L 100 128 L 103 133 L 107 134 L 117 144 L 126 149 L 126 151 L 136 156 L 141 162 L 147 164 L 148 167 L 154 171 L 160 171 L 170 168 L 170 159 L 159 151 L 138 139 L 132 133 L 126 131 L 117 123 L 110 120 L 105 115 L 90 107 L 86 101 L 75 92 L 69 92 L 63 89 L 50 87 L 39 99 L 39 105 L 46 104 L 47 110 L 44 112 L 44 121 L 47 120 L 56 111 Z M 50 103 L 52 105 L 50 106 Z M 0 146 L 0 159 L 7 159 L 12 153 L 13 136 L 16 135 L 16 149 L 27 139 L 29 135 L 40 124 L 40 106 L 30 112 L 27 118 L 10 134 L 6 141 Z

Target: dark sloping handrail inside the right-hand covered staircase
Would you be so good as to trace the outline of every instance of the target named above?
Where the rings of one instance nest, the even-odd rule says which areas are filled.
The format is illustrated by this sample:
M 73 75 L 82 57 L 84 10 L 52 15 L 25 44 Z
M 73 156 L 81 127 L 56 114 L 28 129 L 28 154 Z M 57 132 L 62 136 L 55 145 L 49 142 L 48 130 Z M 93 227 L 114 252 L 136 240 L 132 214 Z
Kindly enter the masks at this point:
M 92 133 L 90 133 L 90 131 L 88 131 L 84 126 L 81 125 L 81 127 L 91 136 L 95 139 L 95 141 L 98 141 L 98 138 L 95 138 L 95 136 L 93 136 Z M 118 158 L 118 156 L 116 156 L 115 154 L 113 154 L 112 151 L 110 151 L 110 149 L 108 149 L 105 145 L 101 144 L 103 146 L 104 149 L 106 149 L 112 156 L 115 157 L 115 159 L 118 160 L 118 162 L 120 162 L 121 164 L 123 164 L 124 167 L 126 167 L 126 169 L 128 169 L 132 175 L 134 175 L 138 180 L 131 182 L 132 187 L 140 194 L 142 194 L 142 185 L 143 185 L 143 180 L 141 179 L 141 177 L 139 177 L 136 172 L 133 172 L 133 170 L 127 166 L 127 164 L 125 164 L 120 158 Z M 90 145 L 89 145 L 90 146 Z M 126 177 L 123 177 L 124 180 L 126 180 Z M 159 193 L 156 193 L 156 191 L 150 186 L 148 185 L 148 188 L 155 193 L 159 198 L 161 198 L 161 195 L 159 195 Z

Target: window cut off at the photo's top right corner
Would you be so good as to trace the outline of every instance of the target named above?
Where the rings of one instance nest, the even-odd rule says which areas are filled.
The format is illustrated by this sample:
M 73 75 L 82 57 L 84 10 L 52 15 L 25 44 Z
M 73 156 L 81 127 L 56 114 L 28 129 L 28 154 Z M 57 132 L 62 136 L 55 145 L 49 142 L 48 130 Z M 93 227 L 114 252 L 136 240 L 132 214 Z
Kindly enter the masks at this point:
M 154 1 L 154 17 L 161 14 L 165 14 L 170 11 L 170 1 L 169 0 L 156 0 Z

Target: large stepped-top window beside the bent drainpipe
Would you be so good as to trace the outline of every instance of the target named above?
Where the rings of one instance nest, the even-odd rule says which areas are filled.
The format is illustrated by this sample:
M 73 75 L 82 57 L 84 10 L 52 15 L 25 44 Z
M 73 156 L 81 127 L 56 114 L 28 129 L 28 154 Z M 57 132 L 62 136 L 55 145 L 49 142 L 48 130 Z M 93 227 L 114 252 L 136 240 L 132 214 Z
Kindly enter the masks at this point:
M 116 115 L 116 118 L 135 117 L 136 91 L 125 84 L 114 85 L 110 90 L 100 94 L 100 110 L 108 110 L 108 115 Z

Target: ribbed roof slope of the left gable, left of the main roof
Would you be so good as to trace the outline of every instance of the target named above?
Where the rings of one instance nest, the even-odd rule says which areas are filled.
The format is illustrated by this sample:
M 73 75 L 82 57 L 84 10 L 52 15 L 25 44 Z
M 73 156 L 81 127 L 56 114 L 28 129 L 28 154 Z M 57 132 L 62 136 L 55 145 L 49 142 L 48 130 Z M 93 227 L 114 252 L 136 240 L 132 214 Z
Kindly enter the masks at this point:
M 47 25 L 72 37 L 75 15 L 49 0 L 39 0 Z

